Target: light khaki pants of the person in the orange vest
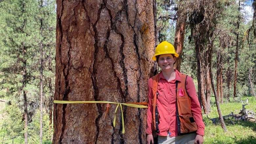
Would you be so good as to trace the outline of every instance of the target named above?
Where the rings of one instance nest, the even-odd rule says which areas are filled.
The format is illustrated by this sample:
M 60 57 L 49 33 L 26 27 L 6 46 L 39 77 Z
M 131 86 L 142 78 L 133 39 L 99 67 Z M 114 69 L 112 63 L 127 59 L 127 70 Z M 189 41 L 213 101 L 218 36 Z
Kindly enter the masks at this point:
M 194 144 L 196 133 L 169 137 L 158 136 L 158 144 Z

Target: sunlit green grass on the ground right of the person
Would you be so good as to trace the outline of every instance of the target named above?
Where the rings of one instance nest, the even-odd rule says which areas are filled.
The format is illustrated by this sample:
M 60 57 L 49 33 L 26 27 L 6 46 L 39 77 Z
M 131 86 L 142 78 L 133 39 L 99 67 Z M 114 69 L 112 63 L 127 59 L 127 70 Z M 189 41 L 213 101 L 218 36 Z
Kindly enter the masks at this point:
M 256 112 L 256 100 L 253 96 L 247 96 L 249 105 L 245 106 L 246 110 Z M 246 96 L 241 98 L 246 100 Z M 212 101 L 215 101 L 214 97 Z M 238 114 L 242 109 L 241 102 L 228 102 L 220 105 L 222 115 L 228 115 L 231 112 Z M 224 133 L 221 124 L 212 124 L 209 119 L 219 117 L 216 104 L 211 106 L 211 113 L 203 115 L 205 122 L 204 144 L 254 144 L 256 143 L 256 123 L 250 121 L 240 121 L 233 118 L 225 120 L 227 132 Z

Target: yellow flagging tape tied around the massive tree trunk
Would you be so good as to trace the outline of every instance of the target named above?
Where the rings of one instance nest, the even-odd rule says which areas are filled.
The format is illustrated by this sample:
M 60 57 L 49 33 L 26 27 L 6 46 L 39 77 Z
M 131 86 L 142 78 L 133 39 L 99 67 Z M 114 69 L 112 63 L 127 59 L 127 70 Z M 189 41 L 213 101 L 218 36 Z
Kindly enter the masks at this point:
M 127 103 L 117 103 L 117 102 L 110 102 L 110 101 L 64 101 L 64 100 L 53 100 L 53 103 L 55 104 L 84 104 L 84 103 L 98 103 L 98 104 L 117 104 L 116 111 L 115 111 L 115 116 L 114 116 L 114 121 L 113 125 L 114 127 L 116 126 L 116 113 L 117 109 L 120 106 L 121 109 L 121 117 L 122 117 L 122 133 L 124 134 L 124 119 L 123 119 L 123 108 L 122 105 L 128 106 L 128 107 L 134 107 L 134 108 L 148 108 L 147 106 L 143 105 L 137 105 L 137 104 L 127 104 Z

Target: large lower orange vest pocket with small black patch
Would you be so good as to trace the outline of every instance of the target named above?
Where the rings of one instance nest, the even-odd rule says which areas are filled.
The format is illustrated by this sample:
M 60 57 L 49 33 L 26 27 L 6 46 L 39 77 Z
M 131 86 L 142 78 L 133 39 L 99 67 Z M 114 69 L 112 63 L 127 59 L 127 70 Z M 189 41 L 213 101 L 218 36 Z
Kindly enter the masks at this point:
M 181 121 L 181 134 L 197 131 L 197 124 L 194 121 L 194 116 L 179 116 Z

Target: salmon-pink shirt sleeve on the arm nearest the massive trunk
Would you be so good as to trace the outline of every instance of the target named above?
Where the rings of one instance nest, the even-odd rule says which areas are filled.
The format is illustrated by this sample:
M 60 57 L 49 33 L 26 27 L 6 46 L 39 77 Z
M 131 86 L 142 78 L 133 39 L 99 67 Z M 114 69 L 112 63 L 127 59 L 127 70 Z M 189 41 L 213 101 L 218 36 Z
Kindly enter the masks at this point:
M 153 113 L 153 107 L 151 99 L 153 99 L 153 93 L 151 90 L 152 86 L 152 78 L 148 80 L 148 109 L 147 109 L 147 129 L 146 134 L 152 134 L 152 113 Z

